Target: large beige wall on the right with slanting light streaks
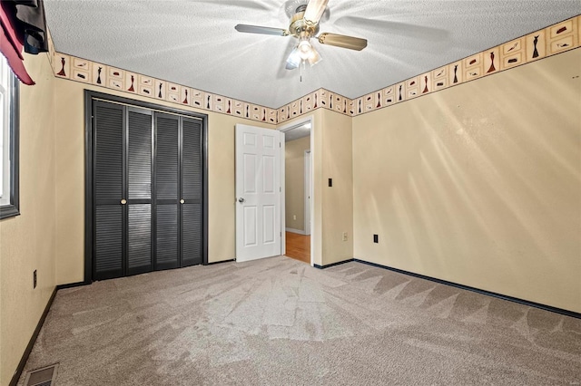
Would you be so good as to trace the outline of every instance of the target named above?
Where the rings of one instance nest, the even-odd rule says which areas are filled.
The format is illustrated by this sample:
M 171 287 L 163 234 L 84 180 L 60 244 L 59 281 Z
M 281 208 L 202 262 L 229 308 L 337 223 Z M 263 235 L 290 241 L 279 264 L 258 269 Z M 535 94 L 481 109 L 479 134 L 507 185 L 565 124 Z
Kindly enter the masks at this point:
M 581 312 L 579 63 L 354 118 L 355 257 Z

